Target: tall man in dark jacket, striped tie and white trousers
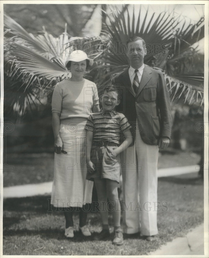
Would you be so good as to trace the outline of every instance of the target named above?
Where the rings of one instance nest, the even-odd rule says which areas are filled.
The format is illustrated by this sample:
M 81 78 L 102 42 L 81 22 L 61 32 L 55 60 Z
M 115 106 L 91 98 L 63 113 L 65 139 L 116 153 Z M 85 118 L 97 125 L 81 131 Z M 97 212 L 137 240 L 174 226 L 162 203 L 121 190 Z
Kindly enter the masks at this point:
M 170 143 L 172 118 L 165 79 L 161 71 L 144 65 L 146 53 L 142 38 L 128 39 L 130 67 L 114 83 L 122 92 L 117 111 L 127 117 L 134 138 L 122 160 L 124 233 L 141 232 L 148 241 L 155 241 L 158 148 Z

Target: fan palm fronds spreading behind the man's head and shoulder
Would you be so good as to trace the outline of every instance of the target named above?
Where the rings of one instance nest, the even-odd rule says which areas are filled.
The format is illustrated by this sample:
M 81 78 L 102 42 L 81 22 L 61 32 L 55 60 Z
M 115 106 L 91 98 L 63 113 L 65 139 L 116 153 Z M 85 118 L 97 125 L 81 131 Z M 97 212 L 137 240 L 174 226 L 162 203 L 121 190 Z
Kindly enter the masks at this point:
M 182 71 L 186 63 L 192 62 L 198 54 L 197 50 L 191 46 L 204 37 L 204 18 L 201 18 L 195 25 L 186 25 L 186 22 L 182 24 L 180 15 L 167 12 L 162 12 L 157 16 L 153 13 L 149 17 L 147 10 L 142 18 L 141 8 L 137 15 L 134 10 L 132 15 L 129 10 L 126 10 L 124 13 L 114 13 L 111 17 L 108 16 L 110 26 L 106 24 L 108 30 L 106 37 L 109 40 L 109 51 L 106 51 L 100 60 L 108 68 L 105 78 L 115 76 L 128 66 L 126 41 L 136 35 L 142 37 L 147 43 L 144 63 L 165 70 L 164 76 L 172 99 L 185 93 L 186 101 L 190 97 L 190 91 L 192 92 L 191 99 L 196 95 L 197 99 L 203 98 L 202 75 L 201 78 L 198 74 L 196 76 L 182 75 Z M 154 48 L 157 45 L 161 47 L 158 52 Z

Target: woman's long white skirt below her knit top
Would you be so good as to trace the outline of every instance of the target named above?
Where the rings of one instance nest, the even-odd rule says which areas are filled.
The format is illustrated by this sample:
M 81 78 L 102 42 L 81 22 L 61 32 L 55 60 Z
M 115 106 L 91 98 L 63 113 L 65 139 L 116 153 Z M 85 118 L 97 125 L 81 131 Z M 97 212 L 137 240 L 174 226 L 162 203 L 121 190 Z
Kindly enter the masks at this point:
M 93 182 L 86 180 L 85 124 L 85 118 L 61 121 L 60 136 L 67 154 L 54 154 L 51 204 L 56 207 L 82 207 L 91 203 Z

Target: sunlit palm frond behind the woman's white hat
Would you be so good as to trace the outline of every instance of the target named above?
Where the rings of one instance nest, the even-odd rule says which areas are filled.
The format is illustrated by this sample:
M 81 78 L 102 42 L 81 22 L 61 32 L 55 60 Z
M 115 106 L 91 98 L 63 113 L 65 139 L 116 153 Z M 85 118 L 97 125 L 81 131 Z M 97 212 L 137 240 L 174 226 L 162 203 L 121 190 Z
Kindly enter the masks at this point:
M 11 63 L 12 68 L 10 77 L 14 78 L 17 71 L 19 76 L 20 74 L 27 76 L 28 85 L 23 83 L 25 88 L 33 85 L 36 81 L 40 88 L 44 89 L 43 81 L 48 85 L 52 80 L 68 78 L 70 72 L 65 68 L 65 61 L 78 46 L 82 50 L 87 46 L 87 54 L 93 59 L 98 58 L 103 52 L 101 46 L 104 39 L 102 37 L 68 38 L 68 34 L 65 32 L 54 38 L 45 29 L 34 37 L 7 15 L 5 15 L 4 22 L 5 29 L 9 27 L 10 33 L 16 35 L 5 38 L 4 44 L 6 62 Z

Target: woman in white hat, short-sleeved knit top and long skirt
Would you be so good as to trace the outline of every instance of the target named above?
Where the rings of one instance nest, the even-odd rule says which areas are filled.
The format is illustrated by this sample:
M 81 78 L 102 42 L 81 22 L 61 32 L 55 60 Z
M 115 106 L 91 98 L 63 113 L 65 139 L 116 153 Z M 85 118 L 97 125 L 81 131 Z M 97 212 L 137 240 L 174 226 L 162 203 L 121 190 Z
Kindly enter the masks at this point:
M 91 203 L 93 183 L 86 180 L 86 132 L 88 116 L 99 110 L 95 83 L 83 75 L 93 60 L 81 50 L 73 51 L 66 68 L 71 78 L 59 82 L 52 96 L 54 132 L 54 181 L 51 204 L 62 208 L 66 220 L 65 236 L 73 237 L 73 209 L 79 207 L 79 229 L 90 236 L 86 226 L 87 207 Z

